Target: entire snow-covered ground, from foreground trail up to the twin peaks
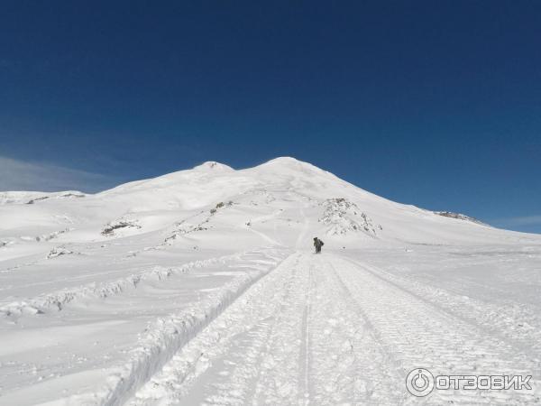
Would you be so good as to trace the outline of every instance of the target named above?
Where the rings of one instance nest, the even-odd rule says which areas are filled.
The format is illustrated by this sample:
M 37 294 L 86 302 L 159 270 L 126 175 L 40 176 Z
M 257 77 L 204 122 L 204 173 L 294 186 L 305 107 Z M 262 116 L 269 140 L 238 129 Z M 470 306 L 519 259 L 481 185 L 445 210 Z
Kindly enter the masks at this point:
M 292 158 L 0 192 L 0 225 L 1 405 L 541 404 L 541 235 Z

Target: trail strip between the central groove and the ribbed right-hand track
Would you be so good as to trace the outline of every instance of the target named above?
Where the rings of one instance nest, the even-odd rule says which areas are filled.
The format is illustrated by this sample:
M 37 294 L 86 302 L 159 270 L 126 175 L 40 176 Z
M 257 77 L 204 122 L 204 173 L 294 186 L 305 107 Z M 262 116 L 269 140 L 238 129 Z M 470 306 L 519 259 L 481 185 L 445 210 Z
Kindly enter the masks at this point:
M 403 378 L 326 255 L 314 260 L 314 404 L 400 404 Z M 319 264 L 321 263 L 321 264 Z

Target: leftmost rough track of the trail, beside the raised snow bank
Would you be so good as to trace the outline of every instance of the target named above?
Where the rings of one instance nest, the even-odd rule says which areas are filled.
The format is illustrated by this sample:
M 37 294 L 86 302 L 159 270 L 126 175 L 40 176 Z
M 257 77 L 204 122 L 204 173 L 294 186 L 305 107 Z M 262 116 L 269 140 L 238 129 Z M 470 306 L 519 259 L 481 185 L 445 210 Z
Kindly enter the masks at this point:
M 256 282 L 136 393 L 132 405 L 246 404 L 257 395 L 261 364 L 287 309 L 298 255 Z M 291 272 L 291 269 L 293 270 Z M 206 379 L 212 376 L 212 383 Z

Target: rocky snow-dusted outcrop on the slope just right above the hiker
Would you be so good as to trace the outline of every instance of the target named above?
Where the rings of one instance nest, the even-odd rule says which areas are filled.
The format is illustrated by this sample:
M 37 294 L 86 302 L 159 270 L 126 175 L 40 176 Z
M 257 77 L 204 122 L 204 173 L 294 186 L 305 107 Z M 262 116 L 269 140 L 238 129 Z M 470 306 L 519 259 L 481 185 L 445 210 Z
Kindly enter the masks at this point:
M 327 198 L 323 203 L 324 212 L 317 221 L 330 226 L 327 235 L 345 235 L 348 232 L 362 232 L 375 237 L 381 225 L 374 226 L 370 217 L 359 207 L 345 198 Z

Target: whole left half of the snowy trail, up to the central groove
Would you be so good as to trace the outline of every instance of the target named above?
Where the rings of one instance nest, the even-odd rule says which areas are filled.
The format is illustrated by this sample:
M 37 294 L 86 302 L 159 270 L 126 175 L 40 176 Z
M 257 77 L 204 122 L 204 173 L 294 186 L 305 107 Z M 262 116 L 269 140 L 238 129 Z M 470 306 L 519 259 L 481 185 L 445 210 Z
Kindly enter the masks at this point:
M 301 350 L 302 318 L 309 274 L 299 257 L 296 254 L 254 284 L 152 378 L 132 404 L 290 404 L 303 400 L 308 371 L 303 371 L 307 364 Z M 213 341 L 212 337 L 220 338 Z M 308 348 L 309 344 L 309 353 Z M 198 372 L 188 373 L 187 378 L 182 371 L 186 371 L 190 351 L 205 354 L 206 360 L 202 367 L 192 363 L 191 370 Z

